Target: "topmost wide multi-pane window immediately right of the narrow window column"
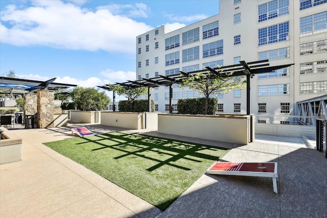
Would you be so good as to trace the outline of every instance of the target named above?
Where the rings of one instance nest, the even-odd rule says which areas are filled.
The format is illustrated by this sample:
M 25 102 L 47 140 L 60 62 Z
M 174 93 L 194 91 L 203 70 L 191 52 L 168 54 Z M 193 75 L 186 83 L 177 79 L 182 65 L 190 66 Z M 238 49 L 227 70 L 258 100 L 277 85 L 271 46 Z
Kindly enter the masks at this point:
M 289 13 L 289 0 L 274 0 L 258 7 L 259 22 Z

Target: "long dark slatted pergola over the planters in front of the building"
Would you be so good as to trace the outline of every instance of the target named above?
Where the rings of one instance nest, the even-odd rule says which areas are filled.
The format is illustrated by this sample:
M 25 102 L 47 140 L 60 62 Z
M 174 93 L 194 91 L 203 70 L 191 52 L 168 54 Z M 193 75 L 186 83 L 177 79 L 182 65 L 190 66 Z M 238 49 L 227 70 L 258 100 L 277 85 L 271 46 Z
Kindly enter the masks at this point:
M 256 74 L 264 74 L 272 72 L 276 69 L 285 68 L 294 64 L 285 64 L 278 66 L 269 66 L 269 60 L 245 62 L 240 61 L 240 64 L 221 66 L 221 67 L 205 67 L 202 70 L 195 70 L 191 72 L 179 71 L 181 74 L 174 74 L 169 76 L 159 75 L 155 78 L 142 78 L 141 80 L 130 81 L 124 83 L 115 83 L 115 85 L 120 85 L 128 88 L 138 88 L 138 87 L 148 87 L 148 102 L 149 102 L 149 111 L 150 111 L 150 88 L 157 86 L 169 86 L 169 112 L 172 113 L 172 97 L 173 97 L 173 88 L 172 84 L 182 83 L 182 80 L 187 77 L 194 77 L 197 73 L 201 72 L 204 75 L 210 75 L 212 77 L 239 77 L 246 76 L 246 114 L 250 115 L 250 79 L 253 78 Z M 231 74 L 232 73 L 232 74 Z M 108 85 L 98 86 L 100 88 L 106 89 L 108 91 L 113 91 L 113 104 L 115 100 L 115 92 L 111 90 Z M 113 105 L 113 111 L 115 111 L 115 105 Z

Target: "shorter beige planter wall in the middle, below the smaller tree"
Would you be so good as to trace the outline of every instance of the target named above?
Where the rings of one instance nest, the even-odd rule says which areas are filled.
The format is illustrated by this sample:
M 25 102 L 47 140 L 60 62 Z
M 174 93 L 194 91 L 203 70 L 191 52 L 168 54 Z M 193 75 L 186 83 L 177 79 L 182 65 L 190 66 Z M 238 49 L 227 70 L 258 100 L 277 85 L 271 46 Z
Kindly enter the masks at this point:
M 144 129 L 145 113 L 102 111 L 101 125 L 127 129 Z

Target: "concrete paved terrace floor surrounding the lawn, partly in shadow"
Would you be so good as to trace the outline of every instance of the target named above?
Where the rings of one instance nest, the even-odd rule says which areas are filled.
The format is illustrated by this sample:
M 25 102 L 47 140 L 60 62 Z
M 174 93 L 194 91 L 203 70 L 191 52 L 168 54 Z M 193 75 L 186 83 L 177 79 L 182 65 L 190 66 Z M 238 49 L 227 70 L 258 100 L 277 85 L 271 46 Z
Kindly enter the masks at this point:
M 278 194 L 270 178 L 201 176 L 160 211 L 42 142 L 74 137 L 67 128 L 17 129 L 22 161 L 0 165 L 0 217 L 327 217 L 327 159 L 313 140 L 256 135 L 242 146 L 203 139 L 145 134 L 230 148 L 231 162 L 278 162 Z M 95 133 L 122 130 L 86 125 Z

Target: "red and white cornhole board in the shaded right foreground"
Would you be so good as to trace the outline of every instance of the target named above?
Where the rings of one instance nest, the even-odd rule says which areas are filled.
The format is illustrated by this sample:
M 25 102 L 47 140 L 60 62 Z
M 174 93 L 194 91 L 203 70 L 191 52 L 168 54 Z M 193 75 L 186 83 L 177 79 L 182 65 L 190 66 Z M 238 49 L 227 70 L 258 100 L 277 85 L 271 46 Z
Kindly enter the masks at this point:
M 277 163 L 231 163 L 216 162 L 206 171 L 207 174 L 233 175 L 233 176 L 255 176 L 255 177 L 271 177 L 272 186 L 277 193 Z

